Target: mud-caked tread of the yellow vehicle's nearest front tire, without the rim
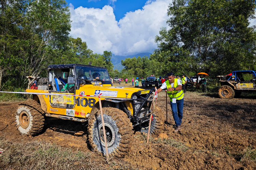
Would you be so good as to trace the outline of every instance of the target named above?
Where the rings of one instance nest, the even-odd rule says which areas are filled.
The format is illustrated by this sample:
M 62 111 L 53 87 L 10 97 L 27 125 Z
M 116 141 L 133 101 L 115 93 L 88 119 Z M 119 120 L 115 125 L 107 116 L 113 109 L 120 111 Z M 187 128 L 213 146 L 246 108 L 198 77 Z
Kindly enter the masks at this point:
M 119 146 L 114 149 L 113 152 L 109 153 L 110 156 L 117 156 L 122 157 L 129 151 L 130 148 L 130 140 L 132 136 L 132 124 L 130 120 L 128 119 L 127 115 L 117 109 L 112 107 L 103 107 L 102 108 L 103 114 L 111 116 L 111 118 L 115 121 L 117 127 L 118 127 L 118 134 L 121 134 L 121 140 L 119 141 Z M 94 132 L 94 122 L 96 121 L 96 117 L 100 115 L 100 111 L 98 111 L 96 114 L 92 115 L 89 124 L 88 124 L 88 139 L 89 144 L 91 147 L 98 151 L 97 146 L 93 142 L 93 132 Z M 104 116 L 104 115 L 103 115 Z M 104 153 L 105 155 L 105 153 Z

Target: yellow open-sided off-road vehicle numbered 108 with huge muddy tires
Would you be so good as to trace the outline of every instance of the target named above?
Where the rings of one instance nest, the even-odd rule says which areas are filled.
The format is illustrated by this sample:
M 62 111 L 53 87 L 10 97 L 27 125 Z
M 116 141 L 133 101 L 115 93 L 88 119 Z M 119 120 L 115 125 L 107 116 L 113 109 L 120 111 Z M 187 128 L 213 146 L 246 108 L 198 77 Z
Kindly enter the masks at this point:
M 29 77 L 26 92 L 33 92 L 33 100 L 20 104 L 16 112 L 17 129 L 23 135 L 35 136 L 41 133 L 46 117 L 88 122 L 91 147 L 105 154 L 98 95 L 101 97 L 110 155 L 120 157 L 128 152 L 134 133 L 132 129 L 148 132 L 151 112 L 150 132 L 158 133 L 163 126 L 160 108 L 151 110 L 155 88 L 144 90 L 113 86 L 106 68 L 90 65 L 49 65 L 47 74 L 47 78 L 34 78 L 37 83 L 31 82 Z

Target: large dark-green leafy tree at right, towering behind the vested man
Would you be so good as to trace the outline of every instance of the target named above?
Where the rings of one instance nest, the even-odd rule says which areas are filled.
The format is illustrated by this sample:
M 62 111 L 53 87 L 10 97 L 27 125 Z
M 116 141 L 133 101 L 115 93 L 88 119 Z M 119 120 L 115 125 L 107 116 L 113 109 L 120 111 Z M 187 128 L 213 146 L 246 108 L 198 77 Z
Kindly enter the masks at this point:
M 255 62 L 255 27 L 248 27 L 255 7 L 253 0 L 173 0 L 170 29 L 161 28 L 155 38 L 153 58 L 167 62 L 161 72 L 192 69 L 219 75 L 247 69 Z

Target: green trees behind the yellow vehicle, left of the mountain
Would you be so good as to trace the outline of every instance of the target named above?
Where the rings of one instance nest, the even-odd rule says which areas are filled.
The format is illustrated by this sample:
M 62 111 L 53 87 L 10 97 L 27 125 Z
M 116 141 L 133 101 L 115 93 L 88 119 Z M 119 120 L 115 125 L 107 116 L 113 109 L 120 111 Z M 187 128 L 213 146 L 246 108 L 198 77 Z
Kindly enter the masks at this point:
M 10 0 L 1 1 L 0 6 L 1 91 L 23 91 L 26 76 L 37 76 L 49 64 L 91 62 L 113 73 L 111 52 L 93 53 L 81 38 L 69 36 L 71 20 L 65 0 Z

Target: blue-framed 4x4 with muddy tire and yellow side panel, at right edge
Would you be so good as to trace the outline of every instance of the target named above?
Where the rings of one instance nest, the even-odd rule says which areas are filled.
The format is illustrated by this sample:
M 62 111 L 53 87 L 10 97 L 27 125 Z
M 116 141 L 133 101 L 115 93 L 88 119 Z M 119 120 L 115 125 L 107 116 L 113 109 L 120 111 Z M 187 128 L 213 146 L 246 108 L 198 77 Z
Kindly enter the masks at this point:
M 221 87 L 218 90 L 220 98 L 233 98 L 234 95 L 239 96 L 241 92 L 256 91 L 256 72 L 232 71 L 228 75 L 218 75 Z

